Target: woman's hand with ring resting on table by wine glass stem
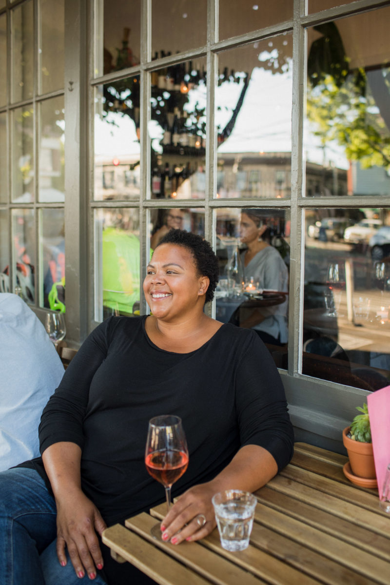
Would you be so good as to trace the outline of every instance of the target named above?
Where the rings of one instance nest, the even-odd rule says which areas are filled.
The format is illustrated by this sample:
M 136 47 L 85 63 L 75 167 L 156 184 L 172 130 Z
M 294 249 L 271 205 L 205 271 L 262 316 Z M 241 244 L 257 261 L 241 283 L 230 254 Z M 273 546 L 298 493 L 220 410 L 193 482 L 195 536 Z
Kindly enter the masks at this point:
M 210 534 L 216 526 L 211 501 L 216 491 L 211 481 L 185 491 L 161 522 L 163 541 L 178 545 L 184 540 L 198 541 Z

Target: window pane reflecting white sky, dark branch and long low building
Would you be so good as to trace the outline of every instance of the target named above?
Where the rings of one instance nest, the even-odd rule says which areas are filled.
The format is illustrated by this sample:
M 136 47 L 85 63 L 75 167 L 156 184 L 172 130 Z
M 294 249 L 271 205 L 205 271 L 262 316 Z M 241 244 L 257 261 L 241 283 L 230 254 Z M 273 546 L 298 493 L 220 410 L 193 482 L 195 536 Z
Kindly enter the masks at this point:
M 216 196 L 290 197 L 291 35 L 220 54 L 216 105 Z

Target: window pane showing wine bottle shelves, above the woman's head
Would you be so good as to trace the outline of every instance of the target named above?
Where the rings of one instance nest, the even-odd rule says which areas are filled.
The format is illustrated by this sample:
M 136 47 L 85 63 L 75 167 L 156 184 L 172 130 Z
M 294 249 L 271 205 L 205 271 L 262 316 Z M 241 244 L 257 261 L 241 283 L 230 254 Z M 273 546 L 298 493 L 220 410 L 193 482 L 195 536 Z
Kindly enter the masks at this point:
M 205 197 L 206 61 L 151 75 L 151 197 Z

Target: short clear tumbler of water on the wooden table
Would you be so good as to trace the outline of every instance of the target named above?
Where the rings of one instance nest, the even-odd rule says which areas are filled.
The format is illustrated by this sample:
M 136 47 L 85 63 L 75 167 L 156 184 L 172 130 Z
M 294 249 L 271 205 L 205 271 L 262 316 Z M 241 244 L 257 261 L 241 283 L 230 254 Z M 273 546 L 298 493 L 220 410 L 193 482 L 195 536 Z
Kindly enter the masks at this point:
M 213 495 L 220 542 L 226 550 L 244 550 L 249 546 L 257 499 L 249 491 L 226 490 Z

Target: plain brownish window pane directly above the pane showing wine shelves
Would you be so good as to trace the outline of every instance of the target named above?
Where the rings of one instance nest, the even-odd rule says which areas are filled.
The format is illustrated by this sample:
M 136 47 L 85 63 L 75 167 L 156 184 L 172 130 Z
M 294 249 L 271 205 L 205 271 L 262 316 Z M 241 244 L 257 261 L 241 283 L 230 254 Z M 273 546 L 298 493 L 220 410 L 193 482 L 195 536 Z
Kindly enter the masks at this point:
M 151 51 L 154 57 L 205 45 L 206 17 L 206 0 L 152 0 Z

